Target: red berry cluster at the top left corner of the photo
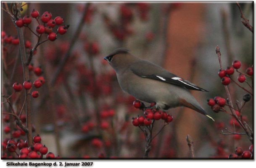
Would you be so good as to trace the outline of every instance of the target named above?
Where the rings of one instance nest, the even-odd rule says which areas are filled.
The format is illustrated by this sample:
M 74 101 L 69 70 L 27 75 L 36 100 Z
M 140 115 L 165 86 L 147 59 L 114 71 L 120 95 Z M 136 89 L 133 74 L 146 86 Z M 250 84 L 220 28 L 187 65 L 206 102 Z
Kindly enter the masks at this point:
M 32 18 L 35 18 L 37 20 L 37 23 L 39 23 L 35 31 L 39 35 L 44 33 L 48 34 L 48 39 L 50 41 L 55 41 L 58 33 L 63 35 L 67 32 L 67 29 L 69 28 L 69 25 L 62 25 L 63 18 L 61 18 L 60 16 L 57 16 L 53 19 L 52 14 L 50 12 L 46 11 L 42 15 L 40 15 L 37 10 L 32 10 L 30 15 L 26 15 L 23 18 L 18 18 L 15 21 L 16 26 L 19 28 L 22 28 L 23 26 L 29 27 L 29 24 L 32 23 Z M 40 20 L 42 23 L 40 23 Z M 56 32 L 53 31 L 53 28 L 55 26 L 58 26 L 58 29 Z

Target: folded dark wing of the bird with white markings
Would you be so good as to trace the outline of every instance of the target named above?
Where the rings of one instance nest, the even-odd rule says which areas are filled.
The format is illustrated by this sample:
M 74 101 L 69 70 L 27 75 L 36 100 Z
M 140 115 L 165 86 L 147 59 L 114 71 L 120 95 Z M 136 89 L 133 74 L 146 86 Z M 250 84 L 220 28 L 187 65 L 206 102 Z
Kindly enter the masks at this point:
M 136 75 L 143 78 L 150 78 L 170 84 L 175 84 L 180 87 L 185 87 L 186 89 L 198 90 L 208 92 L 205 89 L 202 89 L 195 84 L 187 81 L 185 79 L 180 78 L 177 75 L 170 73 L 169 71 L 163 69 L 161 66 L 153 64 L 149 61 L 137 61 L 133 63 L 129 69 Z

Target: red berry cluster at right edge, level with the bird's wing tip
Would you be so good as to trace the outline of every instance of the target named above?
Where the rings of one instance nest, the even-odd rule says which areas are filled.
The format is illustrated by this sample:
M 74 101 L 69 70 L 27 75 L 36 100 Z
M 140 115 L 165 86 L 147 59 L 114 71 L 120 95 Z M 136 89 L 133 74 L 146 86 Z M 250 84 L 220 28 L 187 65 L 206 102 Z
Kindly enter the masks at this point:
M 231 75 L 234 74 L 235 70 L 239 73 L 238 81 L 243 83 L 246 81 L 246 76 L 253 76 L 253 67 L 248 67 L 246 69 L 246 74 L 239 72 L 238 69 L 241 67 L 241 62 L 238 60 L 233 61 L 232 66 L 227 67 L 225 70 L 219 70 L 219 77 L 221 78 L 221 82 L 223 85 L 228 85 L 232 81 Z

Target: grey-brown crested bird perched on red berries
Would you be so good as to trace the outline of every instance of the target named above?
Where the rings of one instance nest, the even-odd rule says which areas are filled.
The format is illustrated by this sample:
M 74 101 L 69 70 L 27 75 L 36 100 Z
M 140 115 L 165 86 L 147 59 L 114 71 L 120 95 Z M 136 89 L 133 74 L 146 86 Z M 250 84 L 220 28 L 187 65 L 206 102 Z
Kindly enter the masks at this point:
M 161 66 L 133 56 L 127 48 L 117 48 L 104 59 L 115 70 L 121 89 L 136 99 L 154 102 L 156 108 L 164 111 L 174 107 L 188 107 L 214 121 L 189 92 L 207 90 Z

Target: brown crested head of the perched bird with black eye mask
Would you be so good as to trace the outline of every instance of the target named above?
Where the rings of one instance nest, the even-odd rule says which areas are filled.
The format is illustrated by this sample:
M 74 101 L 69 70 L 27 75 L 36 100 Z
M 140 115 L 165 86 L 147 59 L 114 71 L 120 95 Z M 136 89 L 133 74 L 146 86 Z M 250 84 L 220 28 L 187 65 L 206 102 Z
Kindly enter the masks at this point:
M 117 48 L 104 59 L 108 61 L 115 71 L 120 71 L 125 67 L 129 67 L 136 60 L 136 57 L 132 56 L 126 48 Z

